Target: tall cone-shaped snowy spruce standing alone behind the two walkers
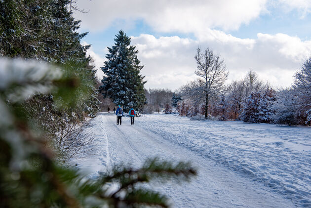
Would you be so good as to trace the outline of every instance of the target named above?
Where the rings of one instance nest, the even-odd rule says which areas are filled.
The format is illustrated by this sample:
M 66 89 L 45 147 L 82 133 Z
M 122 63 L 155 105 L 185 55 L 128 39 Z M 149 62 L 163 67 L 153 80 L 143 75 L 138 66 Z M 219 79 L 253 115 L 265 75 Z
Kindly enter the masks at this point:
M 108 61 L 101 67 L 106 77 L 103 78 L 100 89 L 103 89 L 105 97 L 110 97 L 116 105 L 122 105 L 124 110 L 129 110 L 131 105 L 142 110 L 146 102 L 146 81 L 140 75 L 143 66 L 139 65 L 138 50 L 130 44 L 131 39 L 120 30 L 116 35 L 115 45 L 108 47 Z

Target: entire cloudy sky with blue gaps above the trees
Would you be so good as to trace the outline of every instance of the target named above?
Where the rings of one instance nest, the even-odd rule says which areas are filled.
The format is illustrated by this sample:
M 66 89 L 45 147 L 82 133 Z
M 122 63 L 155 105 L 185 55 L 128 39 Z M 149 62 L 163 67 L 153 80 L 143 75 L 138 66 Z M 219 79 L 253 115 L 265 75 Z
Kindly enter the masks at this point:
M 146 88 L 196 79 L 196 48 L 224 58 L 230 83 L 249 70 L 287 87 L 311 56 L 311 0 L 79 0 L 82 41 L 97 68 L 122 29 L 139 50 Z

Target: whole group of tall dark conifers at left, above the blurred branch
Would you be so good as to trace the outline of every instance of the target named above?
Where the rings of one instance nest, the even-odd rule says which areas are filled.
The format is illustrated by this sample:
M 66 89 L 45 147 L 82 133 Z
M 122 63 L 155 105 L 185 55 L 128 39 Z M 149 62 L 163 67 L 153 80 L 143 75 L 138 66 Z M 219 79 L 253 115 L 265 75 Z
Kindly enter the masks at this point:
M 80 21 L 75 20 L 68 9 L 70 3 L 71 0 L 0 1 L 0 54 L 35 58 L 71 68 L 71 73 L 81 81 L 77 90 L 87 91 L 89 96 L 68 110 L 80 117 L 83 112 L 95 116 L 99 101 L 95 96 L 95 71 L 91 58 L 86 56 L 90 45 L 80 44 L 87 33 L 77 32 Z M 44 97 L 34 99 L 44 100 Z

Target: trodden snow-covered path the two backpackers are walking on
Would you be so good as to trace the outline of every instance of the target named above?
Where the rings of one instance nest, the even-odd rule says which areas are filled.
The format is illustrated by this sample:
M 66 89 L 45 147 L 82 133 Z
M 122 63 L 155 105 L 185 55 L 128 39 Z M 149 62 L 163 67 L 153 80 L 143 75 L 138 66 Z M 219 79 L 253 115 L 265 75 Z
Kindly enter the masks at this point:
M 97 148 L 101 151 L 91 159 L 79 163 L 79 167 L 87 171 L 89 177 L 96 177 L 98 172 L 109 170 L 111 166 L 120 163 L 139 167 L 147 158 L 158 156 L 169 161 L 191 161 L 198 168 L 198 176 L 190 183 L 152 184 L 153 189 L 170 196 L 176 207 L 295 207 L 293 202 L 272 192 L 271 188 L 262 183 L 242 177 L 238 172 L 200 152 L 174 142 L 172 138 L 146 130 L 148 125 L 143 125 L 146 117 L 137 118 L 138 125 L 130 125 L 129 118 L 122 118 L 122 125 L 116 125 L 115 119 L 113 114 L 101 113 L 91 121 L 91 128 L 98 142 Z M 164 123 L 167 125 L 169 122 Z M 149 124 L 155 125 L 152 122 Z

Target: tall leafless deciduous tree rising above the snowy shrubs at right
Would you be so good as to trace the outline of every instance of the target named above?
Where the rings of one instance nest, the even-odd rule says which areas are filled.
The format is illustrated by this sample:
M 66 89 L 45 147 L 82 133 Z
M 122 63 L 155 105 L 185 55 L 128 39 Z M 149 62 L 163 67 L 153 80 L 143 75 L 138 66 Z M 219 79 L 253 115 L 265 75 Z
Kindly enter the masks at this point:
M 228 71 L 224 59 L 221 59 L 219 55 L 215 55 L 209 47 L 204 52 L 198 47 L 194 58 L 197 63 L 195 74 L 200 77 L 196 91 L 203 93 L 205 118 L 207 118 L 208 101 L 211 96 L 224 92 L 224 83 L 227 80 Z

